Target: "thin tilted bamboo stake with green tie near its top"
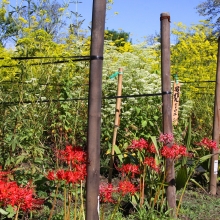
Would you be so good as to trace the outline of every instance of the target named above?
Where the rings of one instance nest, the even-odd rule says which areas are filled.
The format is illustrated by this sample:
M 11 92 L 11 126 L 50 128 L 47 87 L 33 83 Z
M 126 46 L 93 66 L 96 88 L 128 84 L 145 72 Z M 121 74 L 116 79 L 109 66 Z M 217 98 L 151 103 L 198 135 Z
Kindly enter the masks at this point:
M 117 90 L 117 96 L 121 96 L 122 91 L 122 72 L 123 69 L 119 68 L 118 70 L 118 90 Z M 109 167 L 109 174 L 108 174 L 108 182 L 112 182 L 112 171 L 113 171 L 113 164 L 114 164 L 114 156 L 115 156 L 115 150 L 114 146 L 116 144 L 116 138 L 117 138 L 117 131 L 119 127 L 119 120 L 120 120 L 120 110 L 121 110 L 121 98 L 116 99 L 116 109 L 115 109 L 115 124 L 114 124 L 114 131 L 113 131 L 113 138 L 112 138 L 112 150 L 111 150 L 111 158 L 110 158 L 110 167 Z

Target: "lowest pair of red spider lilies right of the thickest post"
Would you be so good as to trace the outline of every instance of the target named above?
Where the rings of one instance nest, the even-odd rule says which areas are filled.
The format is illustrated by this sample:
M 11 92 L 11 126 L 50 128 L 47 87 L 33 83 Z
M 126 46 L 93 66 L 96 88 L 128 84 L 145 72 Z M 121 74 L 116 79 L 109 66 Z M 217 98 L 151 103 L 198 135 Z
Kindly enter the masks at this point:
M 115 193 L 119 193 L 121 196 L 128 194 L 133 195 L 137 191 L 137 187 L 130 181 L 120 181 L 118 187 L 113 187 L 112 184 L 101 184 L 99 186 L 99 195 L 101 202 L 116 203 L 114 198 Z

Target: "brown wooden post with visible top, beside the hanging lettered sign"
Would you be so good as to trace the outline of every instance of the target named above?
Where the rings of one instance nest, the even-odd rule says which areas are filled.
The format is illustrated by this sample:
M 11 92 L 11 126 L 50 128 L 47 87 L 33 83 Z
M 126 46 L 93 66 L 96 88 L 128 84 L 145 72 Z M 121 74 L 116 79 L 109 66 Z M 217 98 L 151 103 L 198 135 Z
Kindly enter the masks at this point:
M 172 134 L 172 102 L 171 102 L 171 76 L 170 76 L 170 14 L 162 13 L 161 21 L 161 80 L 162 80 L 162 113 L 163 113 L 163 133 Z M 172 147 L 173 143 L 168 143 Z M 176 187 L 175 170 L 172 159 L 166 159 L 166 196 L 168 207 L 172 209 L 172 215 L 176 212 Z

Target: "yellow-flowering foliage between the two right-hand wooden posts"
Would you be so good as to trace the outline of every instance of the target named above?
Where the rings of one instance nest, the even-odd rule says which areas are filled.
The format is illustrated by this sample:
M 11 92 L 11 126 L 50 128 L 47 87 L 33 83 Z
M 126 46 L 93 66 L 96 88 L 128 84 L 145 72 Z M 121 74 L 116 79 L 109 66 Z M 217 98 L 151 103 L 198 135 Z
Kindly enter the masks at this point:
M 180 135 L 184 131 L 179 138 L 185 138 L 191 117 L 192 142 L 212 134 L 218 50 L 217 37 L 212 31 L 207 22 L 191 27 L 179 23 L 172 30 L 176 44 L 171 47 L 171 73 L 178 74 L 181 83 L 180 121 L 174 132 Z

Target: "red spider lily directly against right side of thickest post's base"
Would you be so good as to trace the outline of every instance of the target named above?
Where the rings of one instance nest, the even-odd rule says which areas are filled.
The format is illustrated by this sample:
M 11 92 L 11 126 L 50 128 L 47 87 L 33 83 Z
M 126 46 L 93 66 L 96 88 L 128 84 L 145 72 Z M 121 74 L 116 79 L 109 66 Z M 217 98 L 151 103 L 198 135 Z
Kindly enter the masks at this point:
M 112 184 L 101 184 L 99 186 L 100 201 L 104 203 L 116 203 L 116 200 L 113 198 L 113 194 L 116 191 L 116 188 Z

